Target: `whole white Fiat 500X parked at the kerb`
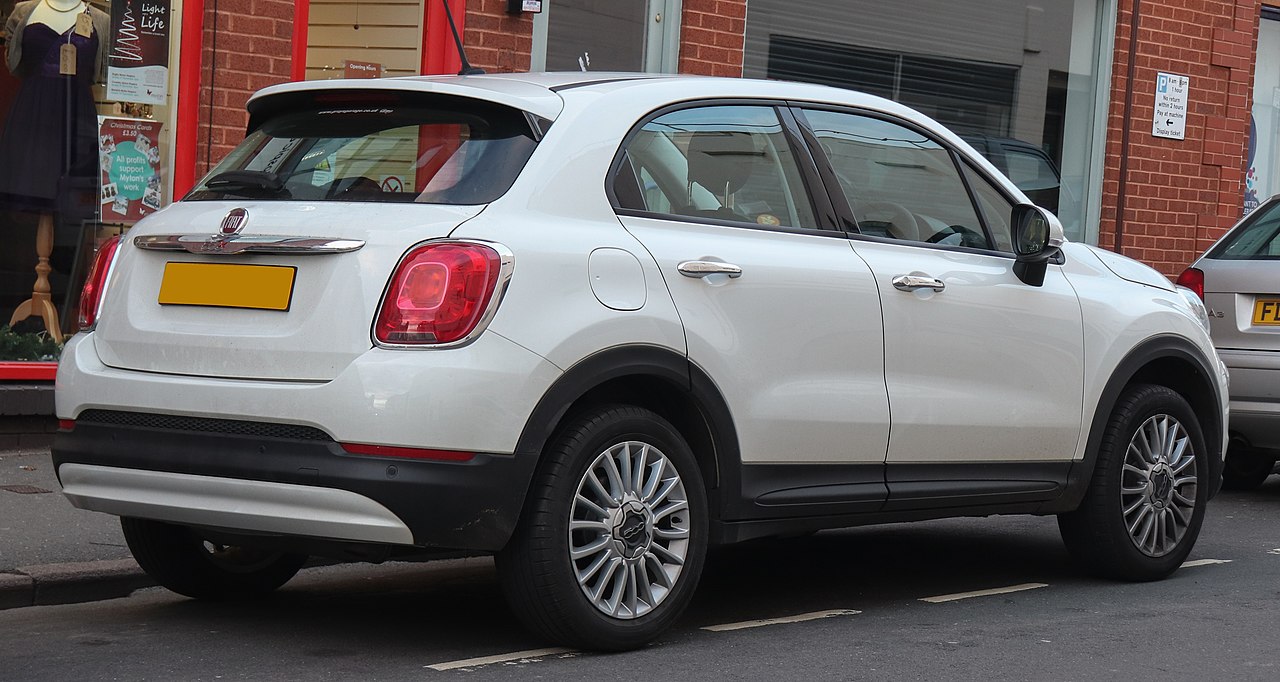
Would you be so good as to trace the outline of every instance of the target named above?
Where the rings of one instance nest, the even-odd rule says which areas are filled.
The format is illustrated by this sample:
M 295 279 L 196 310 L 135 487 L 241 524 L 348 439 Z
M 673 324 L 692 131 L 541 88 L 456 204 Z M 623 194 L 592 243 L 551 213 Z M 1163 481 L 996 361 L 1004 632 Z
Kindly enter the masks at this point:
M 248 109 L 101 250 L 58 372 L 67 496 L 177 592 L 492 553 L 529 627 L 627 649 L 709 545 L 1056 514 L 1155 580 L 1220 485 L 1199 298 L 895 102 L 590 73 Z

